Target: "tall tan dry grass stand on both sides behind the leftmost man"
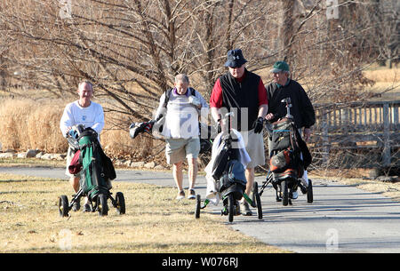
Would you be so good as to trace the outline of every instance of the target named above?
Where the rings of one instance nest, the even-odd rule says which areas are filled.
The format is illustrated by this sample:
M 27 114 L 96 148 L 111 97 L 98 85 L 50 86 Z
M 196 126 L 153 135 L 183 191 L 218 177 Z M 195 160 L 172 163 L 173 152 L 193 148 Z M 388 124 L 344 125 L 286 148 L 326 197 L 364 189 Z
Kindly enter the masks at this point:
M 60 118 L 66 105 L 67 102 L 60 100 L 47 101 L 40 106 L 34 100 L 3 100 L 0 103 L 0 142 L 3 150 L 37 148 L 49 153 L 67 152 L 68 142 L 60 132 Z M 118 118 L 115 113 L 112 117 Z M 113 127 L 107 113 L 105 119 L 100 143 L 108 155 L 139 158 L 152 155 L 153 139 L 131 139 L 129 132 Z

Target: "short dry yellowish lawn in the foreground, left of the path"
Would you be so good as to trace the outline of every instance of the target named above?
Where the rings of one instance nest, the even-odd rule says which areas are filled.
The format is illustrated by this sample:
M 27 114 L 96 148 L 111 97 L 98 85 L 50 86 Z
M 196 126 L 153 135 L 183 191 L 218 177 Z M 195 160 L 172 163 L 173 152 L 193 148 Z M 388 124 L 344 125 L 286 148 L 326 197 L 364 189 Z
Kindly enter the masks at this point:
M 66 219 L 56 202 L 71 194 L 68 181 L 0 174 L 0 252 L 284 252 L 232 230 L 218 215 L 195 219 L 194 201 L 173 200 L 175 188 L 113 186 L 125 195 L 125 215 L 108 201 L 107 217 L 71 211 Z

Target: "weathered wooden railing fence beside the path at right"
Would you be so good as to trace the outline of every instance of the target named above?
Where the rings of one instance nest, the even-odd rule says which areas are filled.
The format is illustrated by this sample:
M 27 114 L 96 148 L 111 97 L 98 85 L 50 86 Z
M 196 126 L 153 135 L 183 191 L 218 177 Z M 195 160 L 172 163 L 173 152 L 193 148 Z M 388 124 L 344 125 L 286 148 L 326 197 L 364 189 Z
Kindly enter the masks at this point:
M 323 162 L 333 150 L 378 149 L 379 163 L 387 167 L 400 147 L 399 107 L 400 100 L 317 104 L 310 148 Z

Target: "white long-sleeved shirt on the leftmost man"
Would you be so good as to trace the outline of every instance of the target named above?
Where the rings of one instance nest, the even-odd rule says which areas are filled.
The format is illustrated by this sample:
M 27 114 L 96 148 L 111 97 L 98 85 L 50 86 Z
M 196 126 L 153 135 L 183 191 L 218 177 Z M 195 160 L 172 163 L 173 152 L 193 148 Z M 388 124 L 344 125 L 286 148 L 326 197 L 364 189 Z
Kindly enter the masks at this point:
M 60 130 L 62 135 L 66 137 L 68 127 L 73 125 L 84 124 L 84 127 L 92 127 L 99 135 L 104 127 L 104 112 L 100 104 L 91 101 L 91 105 L 82 108 L 78 100 L 71 102 L 64 109 L 64 113 L 60 120 Z

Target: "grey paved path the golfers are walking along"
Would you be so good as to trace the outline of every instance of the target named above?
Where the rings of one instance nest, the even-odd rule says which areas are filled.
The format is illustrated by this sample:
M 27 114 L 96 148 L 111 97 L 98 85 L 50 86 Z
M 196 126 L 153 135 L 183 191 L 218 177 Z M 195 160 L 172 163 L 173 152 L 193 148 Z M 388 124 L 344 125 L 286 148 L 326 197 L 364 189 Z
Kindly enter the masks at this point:
M 57 168 L 0 167 L 0 172 L 67 179 Z M 116 174 L 118 181 L 174 186 L 171 172 L 118 170 Z M 263 180 L 256 178 L 259 185 Z M 282 206 L 275 201 L 274 189 L 267 187 L 261 196 L 264 219 L 237 216 L 229 226 L 296 252 L 400 252 L 400 203 L 337 182 L 313 182 L 314 203 L 300 195 L 292 206 Z M 202 197 L 205 187 L 205 178 L 199 176 L 196 192 Z M 220 208 L 209 205 L 202 212 L 220 215 Z M 228 217 L 221 219 L 228 224 Z

